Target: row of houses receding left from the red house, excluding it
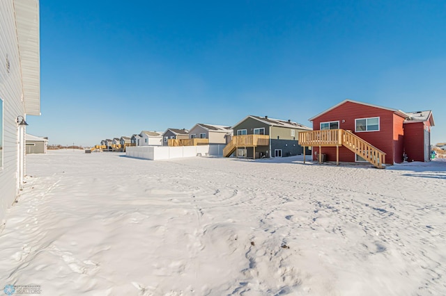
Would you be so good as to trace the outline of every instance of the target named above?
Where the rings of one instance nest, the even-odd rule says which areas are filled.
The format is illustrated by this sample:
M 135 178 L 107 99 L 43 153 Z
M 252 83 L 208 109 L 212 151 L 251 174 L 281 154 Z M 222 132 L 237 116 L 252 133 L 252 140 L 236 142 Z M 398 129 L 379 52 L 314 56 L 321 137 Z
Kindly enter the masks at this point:
M 195 124 L 192 129 L 169 128 L 164 133 L 141 131 L 131 137 L 105 139 L 102 151 L 125 151 L 132 146 L 192 146 L 222 145 L 224 156 L 245 158 L 282 157 L 302 154 L 298 134 L 311 131 L 291 120 L 277 120 L 248 115 L 233 126 L 217 124 Z M 307 149 L 309 154 L 309 149 Z

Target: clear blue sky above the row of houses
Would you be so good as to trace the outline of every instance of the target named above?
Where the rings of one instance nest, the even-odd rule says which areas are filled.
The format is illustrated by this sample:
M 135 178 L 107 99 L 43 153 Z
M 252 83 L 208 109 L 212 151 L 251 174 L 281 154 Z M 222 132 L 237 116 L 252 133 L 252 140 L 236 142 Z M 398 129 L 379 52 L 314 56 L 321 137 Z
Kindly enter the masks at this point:
M 141 130 L 308 119 L 344 99 L 433 110 L 446 142 L 445 1 L 40 0 L 42 116 L 90 146 Z

